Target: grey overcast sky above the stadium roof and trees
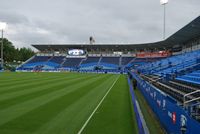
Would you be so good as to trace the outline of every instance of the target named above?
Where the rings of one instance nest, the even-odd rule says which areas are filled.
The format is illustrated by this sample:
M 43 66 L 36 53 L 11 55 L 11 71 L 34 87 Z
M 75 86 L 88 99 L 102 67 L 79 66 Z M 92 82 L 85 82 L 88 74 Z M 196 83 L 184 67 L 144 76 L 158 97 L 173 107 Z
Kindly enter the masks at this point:
M 0 0 L 5 37 L 16 47 L 35 43 L 145 43 L 162 39 L 159 0 Z M 200 0 L 169 0 L 167 36 L 200 15 Z

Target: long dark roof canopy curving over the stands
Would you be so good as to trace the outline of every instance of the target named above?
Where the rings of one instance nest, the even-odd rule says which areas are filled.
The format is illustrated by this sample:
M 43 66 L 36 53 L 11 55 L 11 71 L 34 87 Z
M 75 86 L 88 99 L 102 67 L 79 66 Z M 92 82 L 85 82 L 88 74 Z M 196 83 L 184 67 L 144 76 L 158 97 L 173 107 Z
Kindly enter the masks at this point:
M 87 51 L 108 50 L 108 51 L 134 51 L 139 49 L 163 49 L 172 48 L 174 45 L 185 43 L 200 37 L 200 16 L 188 25 L 177 31 L 164 41 L 143 43 L 143 44 L 33 44 L 39 51 L 63 51 L 68 49 L 84 49 Z

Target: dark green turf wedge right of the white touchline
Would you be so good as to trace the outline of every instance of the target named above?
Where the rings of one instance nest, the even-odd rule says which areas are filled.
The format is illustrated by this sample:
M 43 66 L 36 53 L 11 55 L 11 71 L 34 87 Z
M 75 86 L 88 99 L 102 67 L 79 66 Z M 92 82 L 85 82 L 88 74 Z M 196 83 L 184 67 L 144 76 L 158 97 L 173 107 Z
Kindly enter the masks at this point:
M 132 134 L 133 127 L 129 88 L 125 76 L 121 76 L 102 105 L 98 108 L 83 134 Z

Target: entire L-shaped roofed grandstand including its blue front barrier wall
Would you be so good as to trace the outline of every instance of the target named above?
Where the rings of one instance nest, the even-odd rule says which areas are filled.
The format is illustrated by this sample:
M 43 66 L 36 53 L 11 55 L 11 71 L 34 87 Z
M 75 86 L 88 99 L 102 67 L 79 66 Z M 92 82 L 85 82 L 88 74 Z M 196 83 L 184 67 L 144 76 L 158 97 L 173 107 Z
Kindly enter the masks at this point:
M 200 16 L 154 43 L 32 46 L 17 71 L 128 73 L 167 133 L 200 130 Z

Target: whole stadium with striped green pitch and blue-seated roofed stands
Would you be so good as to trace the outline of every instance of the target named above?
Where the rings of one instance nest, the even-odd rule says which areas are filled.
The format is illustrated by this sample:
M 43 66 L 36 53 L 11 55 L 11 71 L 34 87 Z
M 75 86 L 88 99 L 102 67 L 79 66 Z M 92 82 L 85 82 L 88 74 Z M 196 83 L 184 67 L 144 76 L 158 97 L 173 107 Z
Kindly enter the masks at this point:
M 0 134 L 199 133 L 200 16 L 158 42 L 32 47 L 1 60 Z

